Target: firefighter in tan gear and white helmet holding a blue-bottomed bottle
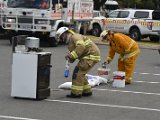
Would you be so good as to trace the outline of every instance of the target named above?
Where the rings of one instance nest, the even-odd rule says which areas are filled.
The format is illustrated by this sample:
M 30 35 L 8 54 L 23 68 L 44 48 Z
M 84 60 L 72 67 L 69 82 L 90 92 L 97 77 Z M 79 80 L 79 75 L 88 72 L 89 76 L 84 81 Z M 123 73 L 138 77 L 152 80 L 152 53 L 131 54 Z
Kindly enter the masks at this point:
M 68 44 L 69 53 L 65 58 L 70 63 L 73 63 L 76 59 L 79 60 L 72 75 L 71 93 L 67 97 L 91 96 L 92 88 L 85 75 L 100 61 L 99 48 L 86 36 L 74 33 L 67 27 L 59 28 L 56 36 Z

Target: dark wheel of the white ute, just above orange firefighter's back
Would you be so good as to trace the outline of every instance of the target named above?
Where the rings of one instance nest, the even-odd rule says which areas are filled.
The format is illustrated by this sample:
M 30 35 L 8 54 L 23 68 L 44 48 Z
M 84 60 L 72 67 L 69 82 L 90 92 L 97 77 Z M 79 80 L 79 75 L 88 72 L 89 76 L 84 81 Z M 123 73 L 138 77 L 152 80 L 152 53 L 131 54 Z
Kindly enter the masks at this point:
M 130 30 L 130 37 L 136 41 L 141 40 L 141 33 L 138 28 L 132 28 Z

